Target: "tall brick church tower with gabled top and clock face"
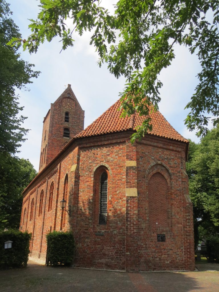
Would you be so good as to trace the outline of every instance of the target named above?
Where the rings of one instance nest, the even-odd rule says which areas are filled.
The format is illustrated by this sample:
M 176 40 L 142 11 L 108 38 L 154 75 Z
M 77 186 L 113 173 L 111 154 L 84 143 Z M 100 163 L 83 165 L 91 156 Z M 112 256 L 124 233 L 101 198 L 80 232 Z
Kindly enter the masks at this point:
M 84 110 L 81 108 L 71 85 L 51 103 L 43 121 L 39 171 L 51 161 L 62 147 L 84 130 Z

